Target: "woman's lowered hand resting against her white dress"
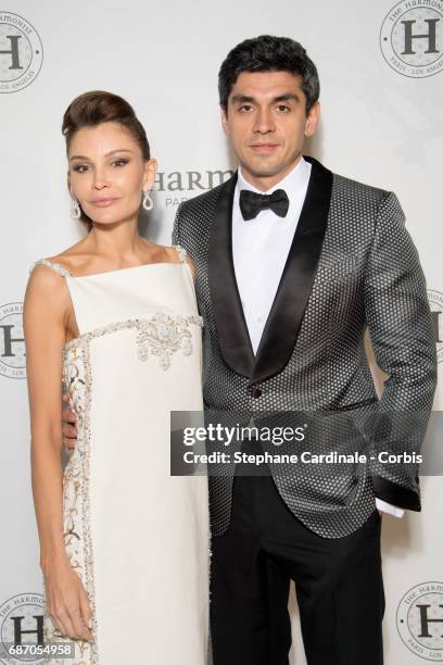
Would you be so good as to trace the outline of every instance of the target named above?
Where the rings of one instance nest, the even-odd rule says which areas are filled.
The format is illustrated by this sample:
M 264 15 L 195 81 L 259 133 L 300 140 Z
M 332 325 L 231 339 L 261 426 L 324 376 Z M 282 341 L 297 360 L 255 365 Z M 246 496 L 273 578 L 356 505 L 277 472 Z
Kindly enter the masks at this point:
M 48 614 L 63 636 L 92 641 L 92 612 L 81 579 L 66 560 L 51 563 L 45 574 Z

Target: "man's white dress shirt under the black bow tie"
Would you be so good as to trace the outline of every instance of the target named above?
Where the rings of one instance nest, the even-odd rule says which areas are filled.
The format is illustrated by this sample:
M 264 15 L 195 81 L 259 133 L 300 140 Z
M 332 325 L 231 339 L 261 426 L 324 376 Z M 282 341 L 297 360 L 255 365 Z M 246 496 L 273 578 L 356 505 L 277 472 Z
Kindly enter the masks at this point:
M 255 354 L 299 224 L 311 168 L 311 164 L 301 158 L 294 168 L 277 185 L 267 191 L 261 191 L 244 179 L 239 167 L 232 206 L 232 258 L 244 318 Z M 289 198 L 286 217 L 279 217 L 274 211 L 266 209 L 260 211 L 253 219 L 243 219 L 239 202 L 242 189 L 262 195 L 284 189 Z M 403 509 L 380 499 L 376 499 L 376 504 L 380 511 L 395 517 L 402 517 L 404 514 Z

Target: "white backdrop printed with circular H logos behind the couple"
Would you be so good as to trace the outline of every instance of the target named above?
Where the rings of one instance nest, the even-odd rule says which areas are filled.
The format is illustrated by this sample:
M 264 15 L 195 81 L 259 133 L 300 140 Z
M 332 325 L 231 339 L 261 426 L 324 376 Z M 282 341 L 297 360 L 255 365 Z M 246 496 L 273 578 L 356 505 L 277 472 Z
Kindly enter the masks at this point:
M 24 350 L 20 341 L 8 348 L 8 340 L 22 337 L 21 302 L 28 267 L 74 243 L 84 233 L 68 213 L 60 130 L 67 104 L 81 92 L 102 89 L 122 95 L 135 106 L 163 174 L 147 233 L 169 243 L 178 203 L 202 191 L 189 186 L 189 179 L 200 178 L 207 187 L 208 172 L 235 167 L 217 106 L 221 60 L 237 42 L 263 33 L 300 40 L 316 62 L 321 81 L 322 120 L 309 152 L 334 172 L 397 193 L 433 291 L 432 308 L 439 312 L 443 310 L 439 167 L 443 153 L 443 61 L 439 55 L 443 51 L 443 4 L 405 0 L 396 13 L 391 12 L 392 5 L 392 0 L 3 3 L 0 51 L 12 51 L 10 37 L 22 35 L 21 59 L 29 66 L 11 74 L 12 54 L 0 52 L 0 620 L 9 599 L 41 592 L 29 484 Z M 414 34 L 435 30 L 434 55 L 425 53 L 429 45 L 425 38 L 414 39 L 416 55 L 405 55 L 403 65 L 390 55 L 389 48 L 398 53 L 401 14 L 405 21 L 416 21 Z M 422 76 L 426 70 L 418 65 L 431 60 L 436 73 Z M 198 175 L 189 176 L 190 172 Z M 440 339 L 436 330 L 442 354 Z M 442 403 L 440 377 L 435 409 L 441 410 Z M 398 624 L 396 619 L 409 589 L 443 582 L 442 478 L 425 478 L 422 488 L 421 514 L 407 514 L 401 522 L 385 517 L 383 523 L 388 665 L 418 665 L 425 658 L 443 662 L 443 624 L 429 625 L 434 637 L 427 642 L 417 639 L 419 630 L 412 615 L 404 624 L 401 616 Z M 433 618 L 443 618 L 443 608 L 438 607 L 439 603 L 443 606 L 442 591 L 443 586 L 426 597 Z M 417 595 L 419 592 L 401 607 L 414 605 Z M 303 665 L 293 597 L 292 612 L 292 655 Z M 409 648 L 402 641 L 402 630 Z

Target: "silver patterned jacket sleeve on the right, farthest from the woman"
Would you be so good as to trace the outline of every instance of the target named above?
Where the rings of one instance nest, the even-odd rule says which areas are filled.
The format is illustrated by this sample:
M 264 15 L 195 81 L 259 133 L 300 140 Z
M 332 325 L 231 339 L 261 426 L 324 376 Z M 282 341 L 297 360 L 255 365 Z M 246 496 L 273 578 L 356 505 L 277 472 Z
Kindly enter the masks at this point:
M 370 427 L 375 495 L 420 511 L 415 460 L 432 410 L 436 350 L 425 275 L 392 192 L 383 197 L 378 211 L 365 312 L 377 363 L 389 375 Z

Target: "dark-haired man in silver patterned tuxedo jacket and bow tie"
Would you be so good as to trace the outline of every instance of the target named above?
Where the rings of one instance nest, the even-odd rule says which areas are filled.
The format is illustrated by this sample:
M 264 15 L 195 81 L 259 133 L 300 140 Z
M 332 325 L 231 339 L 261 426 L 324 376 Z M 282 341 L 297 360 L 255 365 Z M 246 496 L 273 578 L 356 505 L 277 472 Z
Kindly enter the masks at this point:
M 303 158 L 319 118 L 314 63 L 291 39 L 249 39 L 223 63 L 219 96 L 239 172 L 183 203 L 174 229 L 195 263 L 206 406 L 250 416 L 415 410 L 426 421 L 436 365 L 417 252 L 393 193 Z M 390 375 L 380 402 L 367 327 Z M 416 450 L 395 421 L 376 418 L 371 451 L 395 447 L 400 432 Z M 214 665 L 287 665 L 291 579 L 309 665 L 380 665 L 376 506 L 420 510 L 416 469 L 375 463 L 351 480 L 270 473 L 211 478 Z

